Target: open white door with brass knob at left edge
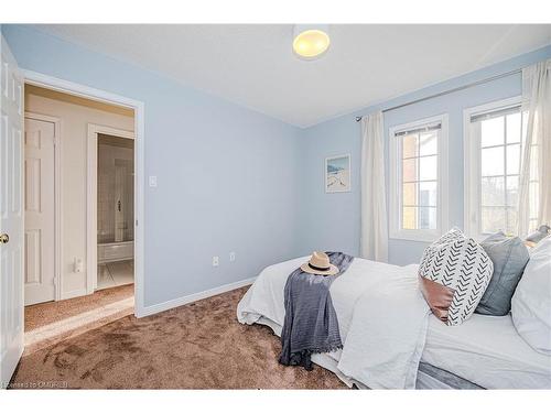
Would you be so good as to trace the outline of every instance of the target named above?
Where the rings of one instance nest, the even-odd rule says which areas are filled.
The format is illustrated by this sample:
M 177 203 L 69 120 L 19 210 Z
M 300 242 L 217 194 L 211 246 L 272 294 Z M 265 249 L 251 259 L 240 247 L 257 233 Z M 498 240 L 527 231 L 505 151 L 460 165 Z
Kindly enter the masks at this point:
M 0 387 L 23 352 L 23 77 L 1 39 Z

